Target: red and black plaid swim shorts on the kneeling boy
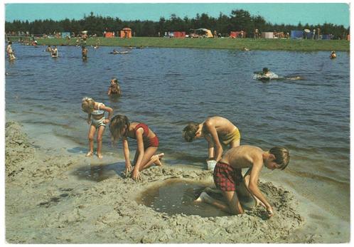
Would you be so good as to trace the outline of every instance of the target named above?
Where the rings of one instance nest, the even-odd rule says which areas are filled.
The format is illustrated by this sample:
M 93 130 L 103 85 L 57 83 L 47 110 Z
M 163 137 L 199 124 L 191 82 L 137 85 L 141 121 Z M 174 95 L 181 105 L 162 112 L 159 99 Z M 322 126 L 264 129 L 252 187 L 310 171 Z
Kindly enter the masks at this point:
M 218 162 L 214 168 L 214 183 L 222 191 L 236 191 L 243 182 L 241 169 L 235 169 L 230 164 Z

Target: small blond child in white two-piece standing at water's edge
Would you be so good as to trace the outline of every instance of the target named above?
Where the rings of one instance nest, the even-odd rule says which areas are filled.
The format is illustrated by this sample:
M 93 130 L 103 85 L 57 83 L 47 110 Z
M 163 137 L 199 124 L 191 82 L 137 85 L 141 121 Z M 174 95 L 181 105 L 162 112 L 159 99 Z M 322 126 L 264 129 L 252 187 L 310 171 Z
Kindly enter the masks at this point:
M 93 154 L 93 138 L 97 130 L 97 157 L 102 159 L 102 136 L 106 124 L 111 120 L 113 110 L 111 107 L 105 106 L 103 103 L 95 102 L 92 98 L 82 98 L 82 110 L 88 114 L 87 123 L 90 125 L 88 140 L 89 152 L 86 156 L 90 157 Z M 104 112 L 108 112 L 108 117 L 104 117 Z

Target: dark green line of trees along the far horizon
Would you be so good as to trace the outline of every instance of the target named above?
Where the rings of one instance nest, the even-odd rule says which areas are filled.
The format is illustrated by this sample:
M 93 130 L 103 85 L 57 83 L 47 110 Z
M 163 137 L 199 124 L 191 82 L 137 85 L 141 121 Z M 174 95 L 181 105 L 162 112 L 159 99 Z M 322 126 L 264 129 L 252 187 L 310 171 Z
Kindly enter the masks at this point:
M 16 32 L 22 31 L 33 34 L 50 34 L 54 32 L 71 32 L 80 33 L 87 30 L 89 34 L 102 36 L 104 31 L 117 32 L 122 28 L 132 28 L 135 36 L 156 37 L 161 36 L 168 31 L 186 31 L 190 33 L 191 29 L 208 28 L 212 32 L 217 31 L 222 36 L 228 36 L 230 31 L 245 31 L 246 37 L 253 37 L 254 29 L 262 31 L 276 31 L 290 33 L 291 30 L 304 30 L 308 28 L 311 31 L 316 28 L 321 28 L 321 33 L 332 34 L 335 39 L 343 39 L 349 34 L 350 28 L 345 28 L 343 25 L 333 25 L 324 23 L 323 25 L 316 24 L 301 24 L 297 26 L 285 24 L 272 24 L 267 22 L 262 16 L 251 16 L 248 11 L 237 9 L 232 10 L 229 16 L 220 13 L 218 18 L 208 16 L 208 14 L 197 14 L 195 18 L 189 19 L 187 16 L 181 19 L 172 14 L 170 19 L 161 17 L 159 21 L 122 21 L 119 18 L 95 16 L 93 12 L 88 16 L 84 16 L 80 20 L 64 19 L 62 21 L 53 21 L 51 19 L 36 20 L 36 21 L 13 21 L 5 23 L 5 31 Z

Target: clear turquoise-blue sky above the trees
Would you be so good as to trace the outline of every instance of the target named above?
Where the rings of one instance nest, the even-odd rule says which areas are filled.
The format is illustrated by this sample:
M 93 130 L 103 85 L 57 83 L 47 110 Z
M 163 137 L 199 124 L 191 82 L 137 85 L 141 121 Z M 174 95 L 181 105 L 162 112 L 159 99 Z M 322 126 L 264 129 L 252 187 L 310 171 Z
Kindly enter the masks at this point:
M 158 21 L 162 16 L 169 19 L 171 14 L 178 17 L 195 17 L 197 13 L 208 14 L 218 17 L 222 14 L 230 15 L 232 9 L 245 9 L 253 15 L 263 16 L 271 23 L 285 24 L 323 24 L 333 23 L 348 27 L 349 5 L 345 3 L 126 3 L 126 4 L 16 4 L 10 3 L 5 6 L 6 21 L 34 21 L 35 19 L 62 20 L 82 19 L 84 14 L 94 12 L 95 15 L 118 17 L 124 21 L 129 20 L 151 20 Z

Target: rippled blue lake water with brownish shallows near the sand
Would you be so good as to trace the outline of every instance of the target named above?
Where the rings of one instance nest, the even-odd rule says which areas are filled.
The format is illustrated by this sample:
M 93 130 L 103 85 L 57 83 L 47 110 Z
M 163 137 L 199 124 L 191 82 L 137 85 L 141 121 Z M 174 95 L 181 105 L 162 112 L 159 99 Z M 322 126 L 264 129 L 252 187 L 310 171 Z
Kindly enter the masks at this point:
M 189 121 L 220 115 L 239 127 L 241 144 L 290 150 L 289 167 L 264 170 L 261 179 L 298 196 L 309 219 L 299 236 L 325 231 L 331 241 L 349 241 L 349 53 L 338 52 L 335 60 L 324 51 L 144 48 L 110 55 L 113 47 L 100 47 L 89 48 L 82 61 L 79 47 L 59 46 L 56 59 L 45 46 L 13 47 L 18 59 L 5 62 L 6 118 L 21 122 L 39 146 L 85 156 L 81 99 L 89 96 L 149 125 L 159 135 L 165 164 L 205 169 L 206 142 L 184 142 L 181 132 Z M 263 67 L 304 80 L 261 83 L 253 72 Z M 122 88 L 119 99 L 107 97 L 112 77 Z M 129 144 L 135 150 L 135 142 Z M 124 159 L 120 142 L 111 147 L 108 130 L 103 155 Z

